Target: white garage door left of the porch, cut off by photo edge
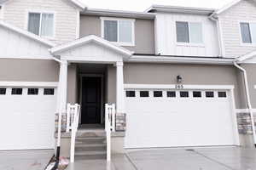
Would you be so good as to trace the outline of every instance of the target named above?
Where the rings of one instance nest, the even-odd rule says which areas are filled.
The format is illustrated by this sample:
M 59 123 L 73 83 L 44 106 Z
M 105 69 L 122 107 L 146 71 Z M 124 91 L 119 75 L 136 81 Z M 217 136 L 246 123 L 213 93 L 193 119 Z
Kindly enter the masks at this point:
M 0 88 L 0 150 L 53 149 L 55 88 Z

